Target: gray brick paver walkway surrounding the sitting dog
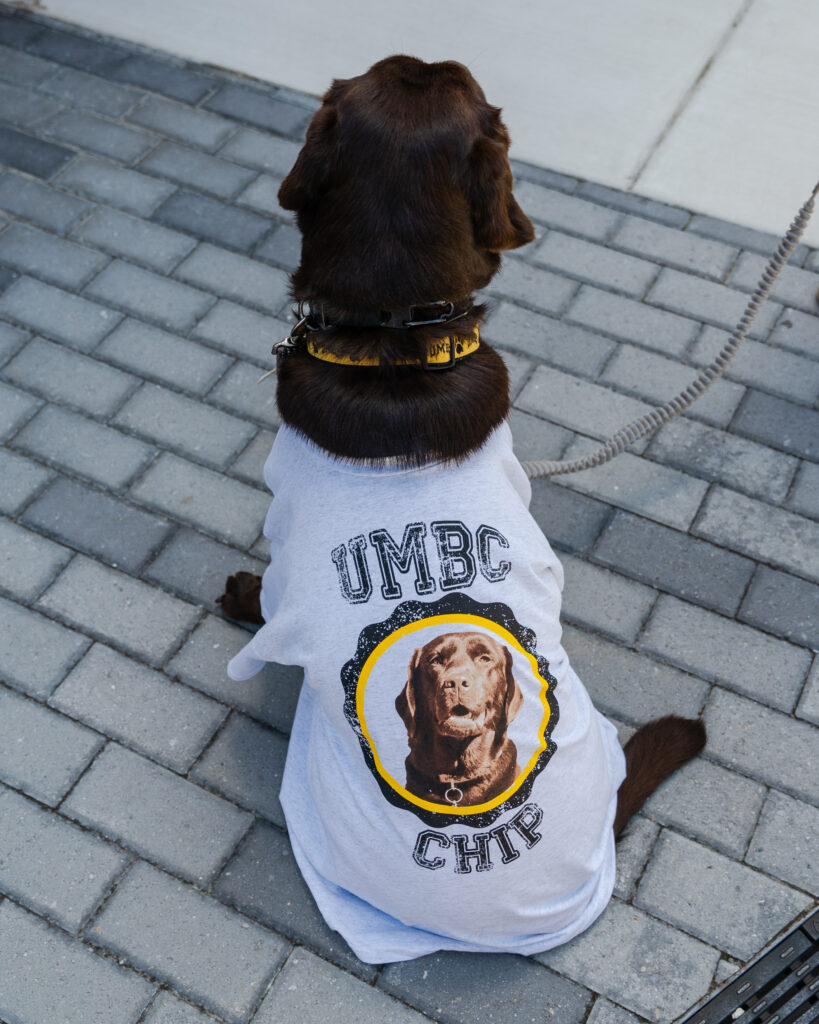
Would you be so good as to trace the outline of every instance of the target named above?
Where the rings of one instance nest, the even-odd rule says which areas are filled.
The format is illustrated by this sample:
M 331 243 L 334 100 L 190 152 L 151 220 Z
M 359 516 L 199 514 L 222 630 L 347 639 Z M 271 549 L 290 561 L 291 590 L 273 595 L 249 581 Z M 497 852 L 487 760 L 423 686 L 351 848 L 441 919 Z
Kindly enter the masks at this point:
M 819 892 L 819 253 L 636 454 L 534 483 L 566 646 L 620 726 L 704 709 L 615 899 L 531 959 L 377 970 L 320 921 L 276 797 L 299 675 L 224 674 L 261 569 L 257 386 L 311 99 L 0 15 L 0 1021 L 671 1021 Z M 524 458 L 695 376 L 775 240 L 518 167 L 538 239 L 492 283 Z M 783 228 L 786 225 L 782 225 Z

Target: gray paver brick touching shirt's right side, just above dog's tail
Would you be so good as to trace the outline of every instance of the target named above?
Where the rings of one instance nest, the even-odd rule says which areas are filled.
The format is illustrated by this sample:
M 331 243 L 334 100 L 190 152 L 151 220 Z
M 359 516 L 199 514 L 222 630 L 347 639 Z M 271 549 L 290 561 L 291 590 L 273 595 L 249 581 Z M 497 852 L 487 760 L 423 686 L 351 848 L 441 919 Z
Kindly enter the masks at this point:
M 701 679 L 571 627 L 563 643 L 604 714 L 642 725 L 661 715 L 696 718 L 702 708 L 708 686 Z

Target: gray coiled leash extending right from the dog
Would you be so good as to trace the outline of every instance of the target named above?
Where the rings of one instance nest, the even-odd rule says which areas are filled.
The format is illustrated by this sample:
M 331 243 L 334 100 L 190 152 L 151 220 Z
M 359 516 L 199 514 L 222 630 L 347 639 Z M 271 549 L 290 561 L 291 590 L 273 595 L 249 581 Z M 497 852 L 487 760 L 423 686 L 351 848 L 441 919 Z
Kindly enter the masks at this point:
M 536 479 L 542 476 L 556 476 L 558 473 L 577 473 L 583 469 L 602 466 L 613 459 L 614 456 L 619 455 L 620 452 L 624 452 L 636 440 L 645 437 L 646 434 L 653 433 L 658 427 L 675 419 L 675 417 L 685 412 L 689 406 L 693 404 L 697 398 L 703 395 L 710 385 L 722 377 L 726 367 L 736 355 L 739 346 L 747 337 L 748 331 L 760 311 L 760 307 L 768 298 L 774 282 L 799 245 L 799 241 L 808 226 L 817 193 L 819 193 L 819 182 L 817 182 L 808 201 L 793 218 L 793 222 L 783 236 L 776 252 L 763 270 L 756 291 L 748 300 L 744 312 L 740 316 L 730 338 L 723 346 L 722 351 L 714 362 L 709 364 L 702 371 L 696 380 L 692 381 L 687 388 L 672 398 L 671 401 L 666 401 L 664 406 L 652 409 L 650 413 L 641 416 L 628 426 L 622 427 L 616 433 L 612 434 L 604 444 L 601 444 L 596 452 L 592 452 L 581 459 L 536 460 L 522 463 L 523 469 L 529 479 Z

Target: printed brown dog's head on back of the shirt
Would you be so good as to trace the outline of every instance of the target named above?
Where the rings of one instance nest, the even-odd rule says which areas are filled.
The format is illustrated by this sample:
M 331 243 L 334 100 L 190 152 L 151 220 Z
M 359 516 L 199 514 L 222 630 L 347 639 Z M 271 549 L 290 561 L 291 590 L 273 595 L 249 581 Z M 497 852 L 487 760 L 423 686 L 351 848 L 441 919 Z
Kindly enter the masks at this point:
M 508 647 L 483 633 L 445 633 L 415 651 L 395 708 L 412 748 L 432 734 L 503 738 L 522 702 Z

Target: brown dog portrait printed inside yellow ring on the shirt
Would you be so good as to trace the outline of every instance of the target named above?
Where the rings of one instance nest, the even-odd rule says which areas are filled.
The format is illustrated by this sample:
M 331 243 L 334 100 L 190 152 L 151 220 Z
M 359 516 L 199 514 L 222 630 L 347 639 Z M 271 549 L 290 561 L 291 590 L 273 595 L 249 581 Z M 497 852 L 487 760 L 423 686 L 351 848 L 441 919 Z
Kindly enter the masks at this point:
M 509 725 L 523 702 L 512 653 L 485 633 L 443 633 L 418 647 L 395 710 L 406 727 L 406 788 L 432 803 L 470 806 L 520 774 Z

